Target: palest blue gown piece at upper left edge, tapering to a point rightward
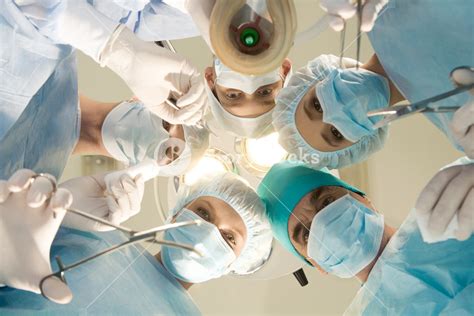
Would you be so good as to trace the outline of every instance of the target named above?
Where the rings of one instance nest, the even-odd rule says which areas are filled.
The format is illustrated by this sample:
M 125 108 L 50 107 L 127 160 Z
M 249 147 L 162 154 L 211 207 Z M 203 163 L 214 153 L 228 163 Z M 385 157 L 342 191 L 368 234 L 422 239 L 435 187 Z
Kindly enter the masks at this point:
M 73 49 L 55 45 L 12 1 L 0 1 L 0 140 Z M 2 155 L 4 151 L 0 151 Z

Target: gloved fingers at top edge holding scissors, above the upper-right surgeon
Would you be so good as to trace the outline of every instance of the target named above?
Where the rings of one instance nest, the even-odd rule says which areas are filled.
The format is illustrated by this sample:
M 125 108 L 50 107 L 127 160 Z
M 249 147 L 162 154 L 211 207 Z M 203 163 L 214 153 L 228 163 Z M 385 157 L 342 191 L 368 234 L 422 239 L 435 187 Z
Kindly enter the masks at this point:
M 375 24 L 380 10 L 387 4 L 388 0 L 365 0 L 362 1 L 361 31 L 369 32 Z M 353 17 L 357 12 L 357 1 L 354 0 L 320 0 L 319 5 L 329 15 L 329 25 L 339 32 L 344 28 L 344 20 Z

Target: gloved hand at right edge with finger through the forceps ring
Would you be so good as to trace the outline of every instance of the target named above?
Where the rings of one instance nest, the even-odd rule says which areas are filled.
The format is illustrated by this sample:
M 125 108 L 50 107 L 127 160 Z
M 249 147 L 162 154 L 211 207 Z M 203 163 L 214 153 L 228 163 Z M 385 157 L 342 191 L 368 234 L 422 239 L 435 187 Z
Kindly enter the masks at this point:
M 468 85 L 474 82 L 474 71 L 466 68 L 456 69 L 452 73 L 454 82 Z M 474 94 L 474 91 L 471 91 Z M 451 130 L 466 155 L 474 159 L 474 97 L 454 113 Z

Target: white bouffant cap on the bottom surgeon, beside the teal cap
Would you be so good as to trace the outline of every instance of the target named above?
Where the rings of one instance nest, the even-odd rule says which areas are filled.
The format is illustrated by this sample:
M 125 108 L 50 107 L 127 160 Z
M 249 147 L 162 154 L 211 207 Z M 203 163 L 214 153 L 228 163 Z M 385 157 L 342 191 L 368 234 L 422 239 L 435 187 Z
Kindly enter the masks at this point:
M 272 233 L 265 217 L 265 207 L 255 190 L 239 176 L 230 172 L 221 173 L 180 188 L 178 202 L 171 214 L 176 214 L 201 196 L 215 197 L 229 204 L 240 215 L 247 229 L 245 245 L 229 272 L 249 274 L 259 269 L 270 255 Z

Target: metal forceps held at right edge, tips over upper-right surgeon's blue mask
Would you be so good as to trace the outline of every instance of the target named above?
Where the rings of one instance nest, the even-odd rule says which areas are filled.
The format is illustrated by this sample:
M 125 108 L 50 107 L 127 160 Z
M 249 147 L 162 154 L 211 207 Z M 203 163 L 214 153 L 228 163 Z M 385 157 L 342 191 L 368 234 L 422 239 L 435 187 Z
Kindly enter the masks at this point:
M 408 115 L 415 114 L 415 113 L 426 113 L 426 112 L 437 112 L 437 113 L 442 113 L 442 112 L 454 112 L 457 109 L 460 108 L 460 106 L 430 106 L 432 103 L 437 102 L 439 100 L 446 99 L 450 96 L 462 93 L 464 91 L 468 91 L 470 89 L 474 89 L 474 83 L 471 83 L 469 85 L 464 85 L 464 86 L 459 86 L 453 90 L 450 90 L 448 92 L 444 92 L 441 94 L 438 94 L 434 97 L 421 100 L 419 102 L 413 103 L 413 104 L 400 104 L 400 105 L 394 105 L 390 106 L 388 108 L 383 108 L 380 110 L 375 110 L 375 111 L 370 111 L 367 113 L 367 116 L 369 117 L 374 117 L 374 116 L 384 116 L 384 118 L 380 121 L 378 121 L 374 127 L 375 128 L 380 128 L 388 123 L 398 120 L 400 118 L 407 117 Z

